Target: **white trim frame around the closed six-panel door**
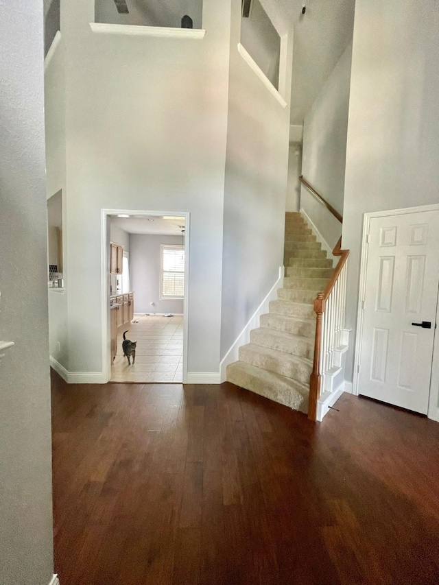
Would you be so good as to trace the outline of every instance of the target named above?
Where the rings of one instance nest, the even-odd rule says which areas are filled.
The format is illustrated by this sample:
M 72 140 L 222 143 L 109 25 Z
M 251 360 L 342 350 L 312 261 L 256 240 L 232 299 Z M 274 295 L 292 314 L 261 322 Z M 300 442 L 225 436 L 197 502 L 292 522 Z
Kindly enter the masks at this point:
M 359 359 L 361 355 L 361 344 L 363 341 L 363 302 L 366 295 L 366 274 L 368 265 L 368 233 L 370 220 L 375 217 L 388 217 L 391 215 L 406 215 L 407 213 L 421 213 L 423 211 L 439 211 L 439 204 L 421 205 L 415 207 L 404 207 L 400 209 L 388 209 L 385 211 L 371 211 L 364 213 L 363 235 L 361 237 L 361 261 L 359 272 L 359 294 L 357 305 L 357 329 L 355 332 L 354 346 L 354 371 L 353 371 L 353 394 L 358 396 Z M 439 298 L 439 290 L 438 297 Z M 436 301 L 436 323 L 439 323 L 439 305 Z M 433 341 L 433 360 L 431 363 L 431 377 L 429 387 L 428 418 L 439 422 L 439 327 L 436 327 Z

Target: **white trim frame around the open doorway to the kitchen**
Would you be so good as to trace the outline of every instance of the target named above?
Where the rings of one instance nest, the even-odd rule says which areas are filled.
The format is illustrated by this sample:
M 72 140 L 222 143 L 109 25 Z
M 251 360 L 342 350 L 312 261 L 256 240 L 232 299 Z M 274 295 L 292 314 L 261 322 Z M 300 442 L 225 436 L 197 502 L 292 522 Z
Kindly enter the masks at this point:
M 102 298 L 102 372 L 104 383 L 111 379 L 110 359 L 110 278 L 108 272 L 110 255 L 110 230 L 107 232 L 107 221 L 110 215 L 145 215 L 147 217 L 163 217 L 175 215 L 185 217 L 185 298 L 183 299 L 183 377 L 187 383 L 188 340 L 189 340 L 189 211 L 145 211 L 139 209 L 101 209 L 101 298 Z M 108 224 L 109 226 L 109 224 Z M 135 302 L 135 298 L 134 298 Z

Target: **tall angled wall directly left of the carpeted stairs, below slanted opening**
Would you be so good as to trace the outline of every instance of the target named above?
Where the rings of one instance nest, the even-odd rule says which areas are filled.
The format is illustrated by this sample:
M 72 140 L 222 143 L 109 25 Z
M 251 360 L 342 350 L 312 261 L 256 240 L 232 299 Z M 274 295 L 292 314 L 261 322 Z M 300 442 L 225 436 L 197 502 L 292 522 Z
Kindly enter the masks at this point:
M 241 2 L 233 0 L 221 357 L 268 294 L 283 264 L 289 108 L 279 104 L 237 51 L 240 10 Z M 287 70 L 291 58 L 290 52 Z

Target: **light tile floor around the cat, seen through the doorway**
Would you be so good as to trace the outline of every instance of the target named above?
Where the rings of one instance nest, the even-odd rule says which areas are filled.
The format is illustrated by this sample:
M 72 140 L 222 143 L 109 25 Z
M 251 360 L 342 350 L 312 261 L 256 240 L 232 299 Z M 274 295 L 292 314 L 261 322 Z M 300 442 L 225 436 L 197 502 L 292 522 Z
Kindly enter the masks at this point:
M 112 382 L 182 382 L 182 315 L 134 315 L 126 334 L 127 339 L 137 341 L 134 366 L 128 366 L 128 360 L 123 355 L 122 335 L 123 330 L 117 337 L 117 356 L 111 368 Z

